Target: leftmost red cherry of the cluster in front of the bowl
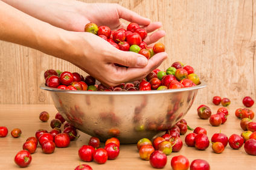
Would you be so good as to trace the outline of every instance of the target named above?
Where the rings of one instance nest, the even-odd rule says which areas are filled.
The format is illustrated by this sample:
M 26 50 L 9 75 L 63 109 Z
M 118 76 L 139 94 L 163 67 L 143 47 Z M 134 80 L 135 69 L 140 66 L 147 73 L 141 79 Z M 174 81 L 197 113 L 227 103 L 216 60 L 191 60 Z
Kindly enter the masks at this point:
M 83 145 L 78 150 L 78 156 L 85 162 L 91 162 L 95 153 L 95 148 L 90 145 Z

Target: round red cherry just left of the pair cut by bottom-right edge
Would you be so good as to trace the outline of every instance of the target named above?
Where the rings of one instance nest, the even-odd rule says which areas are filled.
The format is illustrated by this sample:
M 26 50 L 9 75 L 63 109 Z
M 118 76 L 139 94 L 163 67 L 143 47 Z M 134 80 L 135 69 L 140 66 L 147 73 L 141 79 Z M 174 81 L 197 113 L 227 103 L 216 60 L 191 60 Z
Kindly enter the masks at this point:
M 167 156 L 162 151 L 154 151 L 150 155 L 149 162 L 153 168 L 164 168 L 167 163 Z

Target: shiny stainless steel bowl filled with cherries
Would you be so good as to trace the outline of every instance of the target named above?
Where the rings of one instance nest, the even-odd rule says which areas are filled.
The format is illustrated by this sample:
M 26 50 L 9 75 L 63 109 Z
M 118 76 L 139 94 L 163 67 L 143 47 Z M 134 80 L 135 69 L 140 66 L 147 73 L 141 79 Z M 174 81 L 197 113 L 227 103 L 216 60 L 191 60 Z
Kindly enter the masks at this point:
M 187 114 L 197 94 L 206 87 L 162 91 L 50 91 L 54 106 L 66 121 L 101 141 L 113 136 L 121 144 L 135 144 L 170 129 Z

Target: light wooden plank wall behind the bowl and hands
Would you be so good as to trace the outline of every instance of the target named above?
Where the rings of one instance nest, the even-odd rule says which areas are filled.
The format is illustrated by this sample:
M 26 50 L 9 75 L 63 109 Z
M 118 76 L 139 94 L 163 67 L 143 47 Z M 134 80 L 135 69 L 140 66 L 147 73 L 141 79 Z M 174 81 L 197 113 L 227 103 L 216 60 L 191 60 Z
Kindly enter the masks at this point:
M 85 1 L 95 2 L 95 1 Z M 208 87 L 196 103 L 210 103 L 213 96 L 229 97 L 241 105 L 243 96 L 256 99 L 256 1 L 254 0 L 102 0 L 132 9 L 152 21 L 161 21 L 167 35 L 168 59 L 190 64 Z M 34 49 L 0 41 L 0 104 L 48 104 L 40 90 L 48 68 L 78 71 L 74 65 Z

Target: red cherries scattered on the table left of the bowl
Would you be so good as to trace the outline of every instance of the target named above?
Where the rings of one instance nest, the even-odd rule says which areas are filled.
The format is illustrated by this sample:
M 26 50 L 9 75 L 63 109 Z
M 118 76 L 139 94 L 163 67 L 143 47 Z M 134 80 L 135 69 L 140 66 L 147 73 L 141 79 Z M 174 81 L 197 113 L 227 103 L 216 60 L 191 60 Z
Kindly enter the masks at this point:
M 48 112 L 40 113 L 39 118 L 44 122 L 48 121 L 49 119 Z M 37 130 L 35 137 L 31 136 L 23 144 L 23 147 L 22 147 L 23 150 L 19 151 L 18 154 L 16 154 L 14 158 L 14 162 L 20 167 L 26 167 L 30 165 L 30 162 L 32 160 L 31 154 L 35 153 L 38 143 L 42 148 L 42 152 L 46 154 L 53 153 L 56 147 L 58 148 L 68 147 L 70 144 L 70 141 L 74 141 L 74 139 L 78 138 L 77 130 L 75 129 L 75 127 L 71 126 L 69 123 L 65 123 L 63 125 L 64 130 L 62 132 L 60 127 L 64 122 L 65 122 L 65 119 L 62 117 L 62 115 L 57 113 L 55 119 L 51 121 L 51 127 L 53 129 L 50 132 L 44 129 Z M 7 133 L 8 133 L 8 130 L 6 127 L 5 128 L 0 127 L 1 137 L 5 137 Z M 13 134 L 18 134 L 16 136 L 19 137 L 21 135 L 21 130 L 16 129 L 15 133 Z

